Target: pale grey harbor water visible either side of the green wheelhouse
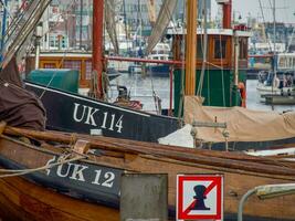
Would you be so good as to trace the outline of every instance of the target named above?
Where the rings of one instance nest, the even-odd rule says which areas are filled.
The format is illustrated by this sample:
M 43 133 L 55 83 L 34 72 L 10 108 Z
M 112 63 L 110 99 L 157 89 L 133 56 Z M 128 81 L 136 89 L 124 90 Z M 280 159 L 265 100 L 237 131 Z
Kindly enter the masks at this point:
M 143 109 L 150 113 L 156 113 L 155 96 L 161 99 L 162 109 L 169 108 L 170 103 L 170 80 L 169 77 L 159 76 L 143 76 L 140 74 L 122 74 L 118 78 L 110 82 L 108 96 L 110 101 L 115 101 L 117 85 L 125 85 L 131 99 L 140 101 Z M 265 105 L 260 99 L 260 94 L 256 90 L 257 80 L 246 81 L 246 107 L 255 110 L 275 110 L 285 112 L 295 109 L 295 105 Z

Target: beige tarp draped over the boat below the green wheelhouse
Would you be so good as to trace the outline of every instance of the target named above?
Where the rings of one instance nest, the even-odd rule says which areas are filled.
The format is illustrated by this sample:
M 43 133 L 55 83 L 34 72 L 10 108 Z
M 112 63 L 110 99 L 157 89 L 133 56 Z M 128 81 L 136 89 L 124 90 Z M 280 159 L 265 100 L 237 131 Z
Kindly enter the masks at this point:
M 263 141 L 295 137 L 295 112 L 250 110 L 243 107 L 202 106 L 200 98 L 185 98 L 185 122 L 226 123 L 229 141 Z M 198 127 L 198 138 L 204 141 L 224 141 L 222 128 Z

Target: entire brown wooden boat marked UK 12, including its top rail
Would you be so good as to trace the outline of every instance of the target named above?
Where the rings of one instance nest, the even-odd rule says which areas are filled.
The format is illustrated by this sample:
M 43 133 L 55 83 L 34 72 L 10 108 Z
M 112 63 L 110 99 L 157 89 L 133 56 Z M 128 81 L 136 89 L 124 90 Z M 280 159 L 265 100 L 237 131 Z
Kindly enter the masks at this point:
M 249 189 L 295 181 L 294 164 L 283 158 L 183 151 L 172 146 L 3 125 L 1 130 L 0 212 L 1 218 L 9 220 L 119 220 L 120 176 L 129 172 L 168 173 L 171 220 L 178 173 L 222 173 L 225 220 L 236 220 L 239 201 Z M 42 145 L 25 144 L 15 136 Z M 52 141 L 63 145 L 52 146 Z M 88 148 L 95 151 L 87 154 Z M 245 204 L 244 220 L 293 220 L 294 201 L 294 196 L 265 201 L 251 197 Z

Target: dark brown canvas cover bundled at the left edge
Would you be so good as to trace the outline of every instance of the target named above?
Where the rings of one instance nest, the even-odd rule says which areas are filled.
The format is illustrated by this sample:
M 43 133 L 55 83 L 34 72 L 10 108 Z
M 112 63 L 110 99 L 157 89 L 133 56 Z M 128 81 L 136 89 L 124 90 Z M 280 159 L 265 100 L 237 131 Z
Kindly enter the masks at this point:
M 0 73 L 0 122 L 10 126 L 45 129 L 45 110 L 41 102 L 22 88 L 15 59 Z

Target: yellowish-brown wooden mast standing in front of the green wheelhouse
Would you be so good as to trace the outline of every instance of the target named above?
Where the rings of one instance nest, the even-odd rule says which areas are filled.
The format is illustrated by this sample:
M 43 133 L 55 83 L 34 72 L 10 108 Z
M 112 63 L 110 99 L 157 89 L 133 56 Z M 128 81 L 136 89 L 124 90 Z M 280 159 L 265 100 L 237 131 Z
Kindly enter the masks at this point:
M 187 0 L 186 95 L 196 92 L 197 0 Z

